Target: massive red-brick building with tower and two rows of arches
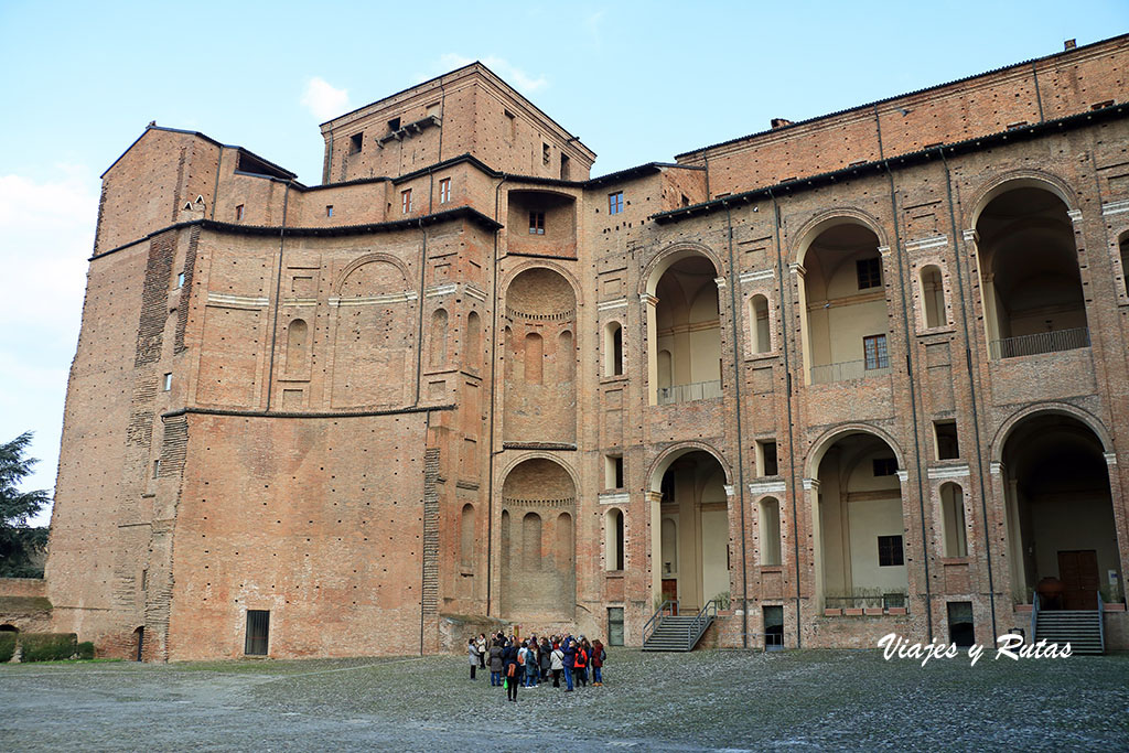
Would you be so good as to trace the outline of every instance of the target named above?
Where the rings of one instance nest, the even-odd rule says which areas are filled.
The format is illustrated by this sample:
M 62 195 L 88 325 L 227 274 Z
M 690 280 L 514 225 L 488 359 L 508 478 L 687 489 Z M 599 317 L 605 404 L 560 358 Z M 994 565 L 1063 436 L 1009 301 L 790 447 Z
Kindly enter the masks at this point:
M 46 595 L 150 659 L 1129 648 L 1129 36 L 589 177 L 479 63 L 323 185 L 150 125 L 103 176 Z M 1120 461 L 1120 463 L 1119 463 Z

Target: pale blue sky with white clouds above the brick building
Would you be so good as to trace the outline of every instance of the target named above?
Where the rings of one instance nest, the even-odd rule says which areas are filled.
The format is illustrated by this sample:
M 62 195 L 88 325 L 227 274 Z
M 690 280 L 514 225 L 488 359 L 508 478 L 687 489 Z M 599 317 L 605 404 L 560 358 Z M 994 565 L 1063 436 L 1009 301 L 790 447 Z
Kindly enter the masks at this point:
M 1127 32 L 1129 0 L 0 0 L 0 441 L 54 487 L 98 176 L 150 121 L 315 185 L 320 123 L 481 60 L 595 176 Z

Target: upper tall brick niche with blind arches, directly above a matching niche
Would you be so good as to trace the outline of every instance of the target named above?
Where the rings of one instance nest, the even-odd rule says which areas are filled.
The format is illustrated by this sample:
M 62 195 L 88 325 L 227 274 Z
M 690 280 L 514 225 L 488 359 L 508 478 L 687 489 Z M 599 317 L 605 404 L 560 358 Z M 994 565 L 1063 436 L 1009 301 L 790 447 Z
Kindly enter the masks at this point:
M 510 443 L 576 441 L 576 295 L 553 270 L 532 268 L 506 291 L 504 430 Z

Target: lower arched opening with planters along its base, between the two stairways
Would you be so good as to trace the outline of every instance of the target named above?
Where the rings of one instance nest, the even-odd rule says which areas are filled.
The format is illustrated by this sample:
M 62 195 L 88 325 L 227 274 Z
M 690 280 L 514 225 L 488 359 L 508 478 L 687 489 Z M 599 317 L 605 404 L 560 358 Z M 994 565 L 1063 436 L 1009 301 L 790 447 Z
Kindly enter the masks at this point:
M 830 608 L 907 605 L 902 491 L 879 437 L 840 436 L 817 471 L 813 519 L 816 594 Z

